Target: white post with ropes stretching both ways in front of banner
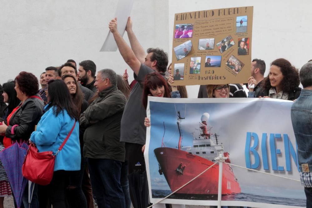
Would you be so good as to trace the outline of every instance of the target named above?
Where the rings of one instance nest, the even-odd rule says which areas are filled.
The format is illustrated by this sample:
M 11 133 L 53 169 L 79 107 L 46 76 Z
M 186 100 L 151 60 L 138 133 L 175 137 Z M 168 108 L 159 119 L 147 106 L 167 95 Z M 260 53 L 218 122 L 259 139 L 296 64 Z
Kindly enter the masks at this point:
M 182 189 L 184 186 L 187 186 L 189 183 L 191 183 L 192 181 L 194 181 L 196 178 L 200 177 L 202 174 L 204 174 L 207 170 L 209 170 L 210 168 L 212 168 L 214 165 L 216 165 L 217 163 L 219 163 L 219 181 L 218 181 L 218 208 L 221 208 L 221 196 L 222 196 L 222 170 L 223 170 L 223 163 L 225 164 L 228 164 L 230 166 L 235 166 L 235 167 L 240 167 L 240 168 L 243 168 L 243 169 L 247 169 L 249 171 L 255 171 L 255 172 L 260 172 L 260 173 L 263 173 L 263 174 L 267 174 L 267 175 L 271 175 L 271 176 L 275 176 L 275 177 L 280 177 L 280 178 L 285 178 L 285 179 L 289 179 L 289 180 L 292 180 L 292 181 L 297 181 L 297 182 L 301 182 L 300 180 L 296 180 L 296 179 L 293 179 L 293 178 L 287 178 L 287 177 L 284 177 L 284 176 L 278 176 L 278 175 L 274 175 L 274 174 L 271 174 L 271 173 L 267 173 L 267 172 L 262 172 L 262 171 L 257 171 L 257 170 L 254 170 L 254 169 L 251 169 L 251 168 L 246 168 L 246 167 L 243 167 L 243 166 L 239 166 L 239 165 L 234 165 L 232 163 L 227 163 L 225 162 L 225 160 L 227 160 L 228 157 L 223 157 L 222 154 L 219 155 L 219 157 L 216 157 L 215 158 L 215 163 L 213 163 L 210 167 L 208 167 L 206 170 L 204 170 L 203 172 L 201 172 L 200 174 L 198 174 L 196 177 L 194 177 L 192 180 L 188 181 L 186 184 L 184 184 L 183 186 L 181 186 L 180 188 L 178 188 L 177 190 L 173 191 L 171 194 L 169 194 L 168 196 L 162 198 L 161 200 L 159 200 L 158 202 L 154 203 L 153 205 L 147 207 L 147 208 L 151 208 L 152 206 L 160 203 L 161 201 L 167 199 L 169 196 L 173 195 L 174 193 L 176 193 L 177 191 L 179 191 L 180 189 Z M 236 179 L 236 178 L 235 178 Z M 236 179 L 237 180 L 237 179 Z

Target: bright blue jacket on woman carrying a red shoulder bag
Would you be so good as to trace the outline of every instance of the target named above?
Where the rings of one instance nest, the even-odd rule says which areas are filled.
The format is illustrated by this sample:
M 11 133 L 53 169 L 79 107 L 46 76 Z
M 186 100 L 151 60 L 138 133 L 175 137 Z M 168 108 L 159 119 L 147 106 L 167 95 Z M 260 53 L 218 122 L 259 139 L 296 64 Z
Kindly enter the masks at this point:
M 49 105 L 45 107 L 45 110 L 48 108 Z M 66 110 L 55 116 L 53 109 L 54 107 L 51 107 L 42 115 L 37 124 L 37 130 L 30 136 L 30 140 L 37 145 L 39 152 L 52 151 L 55 154 L 74 125 L 74 120 Z M 77 121 L 63 149 L 56 155 L 54 171 L 80 170 L 80 160 L 79 123 Z

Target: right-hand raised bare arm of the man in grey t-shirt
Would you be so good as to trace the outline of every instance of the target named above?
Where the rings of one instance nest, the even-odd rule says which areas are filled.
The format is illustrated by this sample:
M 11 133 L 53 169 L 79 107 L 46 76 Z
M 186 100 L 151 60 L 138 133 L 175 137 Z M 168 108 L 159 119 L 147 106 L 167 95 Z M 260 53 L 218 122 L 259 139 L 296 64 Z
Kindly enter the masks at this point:
M 139 43 L 138 39 L 134 35 L 134 32 L 132 30 L 132 20 L 130 17 L 128 17 L 126 31 L 127 31 L 131 49 L 134 52 L 134 55 L 137 57 L 137 59 L 139 59 L 141 63 L 144 63 L 146 54 L 145 54 L 143 47 Z

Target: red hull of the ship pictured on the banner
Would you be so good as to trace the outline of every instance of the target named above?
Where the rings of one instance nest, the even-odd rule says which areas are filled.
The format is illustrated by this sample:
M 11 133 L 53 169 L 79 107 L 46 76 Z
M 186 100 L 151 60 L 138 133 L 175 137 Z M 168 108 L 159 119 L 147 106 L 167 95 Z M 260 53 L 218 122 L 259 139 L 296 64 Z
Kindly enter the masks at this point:
M 156 148 L 154 153 L 171 191 L 177 190 L 214 164 L 208 159 L 174 148 Z M 177 171 L 179 168 L 181 171 Z M 218 177 L 219 164 L 216 164 L 176 193 L 217 194 Z M 232 168 L 228 164 L 223 164 L 222 195 L 236 193 L 241 193 L 241 187 L 232 172 Z

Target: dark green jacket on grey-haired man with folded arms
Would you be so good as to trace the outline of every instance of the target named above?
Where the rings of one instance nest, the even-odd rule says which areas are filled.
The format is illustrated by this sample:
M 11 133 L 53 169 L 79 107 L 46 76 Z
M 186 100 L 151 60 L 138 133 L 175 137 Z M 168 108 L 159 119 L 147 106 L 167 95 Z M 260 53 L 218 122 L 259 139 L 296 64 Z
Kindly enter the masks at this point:
M 111 159 L 124 162 L 124 143 L 120 139 L 120 121 L 126 98 L 116 86 L 99 93 L 80 116 L 84 157 Z

